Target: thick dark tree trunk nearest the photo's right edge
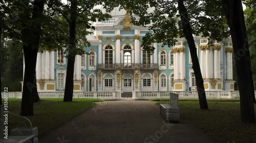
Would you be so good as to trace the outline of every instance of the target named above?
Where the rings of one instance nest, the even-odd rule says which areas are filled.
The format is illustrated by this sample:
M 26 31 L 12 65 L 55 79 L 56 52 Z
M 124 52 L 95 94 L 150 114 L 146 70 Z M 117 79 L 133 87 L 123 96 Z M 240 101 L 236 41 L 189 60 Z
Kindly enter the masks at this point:
M 241 0 L 222 0 L 222 2 L 231 32 L 234 59 L 236 61 L 241 120 L 245 123 L 256 123 L 253 105 L 255 95 L 242 2 Z

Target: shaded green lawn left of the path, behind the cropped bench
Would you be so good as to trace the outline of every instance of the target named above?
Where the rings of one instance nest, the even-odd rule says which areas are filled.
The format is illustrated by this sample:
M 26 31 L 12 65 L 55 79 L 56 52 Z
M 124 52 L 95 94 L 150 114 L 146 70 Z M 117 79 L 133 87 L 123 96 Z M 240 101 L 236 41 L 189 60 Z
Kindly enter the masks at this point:
M 91 108 L 99 99 L 74 98 L 73 102 L 62 102 L 61 98 L 43 98 L 40 102 L 34 103 L 34 116 L 27 116 L 33 127 L 38 127 L 38 136 L 41 137 L 58 126 L 67 123 L 83 111 Z M 21 99 L 9 99 L 8 109 L 15 115 L 19 115 Z M 8 129 L 16 128 L 18 123 L 29 123 L 20 117 L 9 114 Z

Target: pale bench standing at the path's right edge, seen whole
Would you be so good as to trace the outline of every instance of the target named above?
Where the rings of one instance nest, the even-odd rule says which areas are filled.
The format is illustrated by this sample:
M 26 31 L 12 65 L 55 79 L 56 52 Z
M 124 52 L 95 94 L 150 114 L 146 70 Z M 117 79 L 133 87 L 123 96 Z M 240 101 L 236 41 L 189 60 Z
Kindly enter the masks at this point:
M 160 115 L 167 122 L 180 122 L 179 95 L 170 93 L 170 103 L 160 104 Z

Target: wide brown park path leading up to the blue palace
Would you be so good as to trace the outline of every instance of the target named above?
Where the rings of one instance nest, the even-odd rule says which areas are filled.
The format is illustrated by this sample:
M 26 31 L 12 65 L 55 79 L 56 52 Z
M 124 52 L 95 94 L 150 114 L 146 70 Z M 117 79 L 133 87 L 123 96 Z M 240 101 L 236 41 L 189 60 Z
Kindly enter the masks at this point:
M 165 123 L 155 102 L 136 100 L 97 102 L 93 108 L 39 138 L 39 142 L 215 143 L 182 119 L 178 124 Z

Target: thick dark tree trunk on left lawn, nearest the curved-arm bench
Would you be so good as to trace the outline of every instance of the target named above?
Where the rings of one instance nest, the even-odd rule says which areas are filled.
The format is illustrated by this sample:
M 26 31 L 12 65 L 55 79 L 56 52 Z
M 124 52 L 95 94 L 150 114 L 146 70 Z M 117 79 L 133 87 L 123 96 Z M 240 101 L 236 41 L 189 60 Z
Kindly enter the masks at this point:
M 22 106 L 20 109 L 21 116 L 33 115 L 33 102 L 39 101 L 36 87 L 36 60 L 41 35 L 42 12 L 45 1 L 35 0 L 33 4 L 31 26 L 22 30 L 23 51 L 25 59 L 25 73 L 23 81 Z M 28 9 L 26 18 L 29 18 Z

